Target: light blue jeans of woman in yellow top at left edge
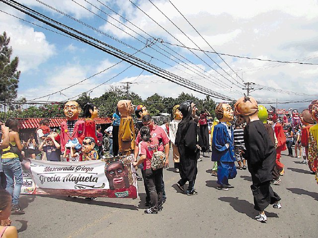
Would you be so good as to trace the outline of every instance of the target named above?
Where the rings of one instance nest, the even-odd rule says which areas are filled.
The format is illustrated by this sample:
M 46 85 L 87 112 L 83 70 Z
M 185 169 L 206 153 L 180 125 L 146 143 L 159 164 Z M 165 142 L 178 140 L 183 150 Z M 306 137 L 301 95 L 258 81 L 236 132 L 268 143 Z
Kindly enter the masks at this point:
M 9 162 L 2 162 L 3 173 L 6 176 L 6 190 L 12 196 L 12 204 L 17 205 L 19 203 L 19 196 L 21 192 L 21 186 L 23 183 L 22 167 L 19 158 L 12 159 Z M 15 179 L 15 184 L 14 184 Z

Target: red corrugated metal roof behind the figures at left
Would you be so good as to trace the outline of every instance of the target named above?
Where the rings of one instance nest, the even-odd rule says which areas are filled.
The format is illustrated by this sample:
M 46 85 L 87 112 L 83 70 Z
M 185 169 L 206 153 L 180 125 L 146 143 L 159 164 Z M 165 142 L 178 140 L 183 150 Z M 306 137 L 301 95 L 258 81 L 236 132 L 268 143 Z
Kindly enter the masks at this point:
M 16 118 L 19 123 L 20 129 L 32 129 L 38 128 L 40 126 L 40 120 L 44 118 Z M 49 118 L 50 119 L 50 127 L 60 127 L 62 121 L 65 121 L 66 118 Z M 80 118 L 84 120 L 84 118 Z M 110 118 L 95 118 L 96 124 L 110 124 L 112 120 Z

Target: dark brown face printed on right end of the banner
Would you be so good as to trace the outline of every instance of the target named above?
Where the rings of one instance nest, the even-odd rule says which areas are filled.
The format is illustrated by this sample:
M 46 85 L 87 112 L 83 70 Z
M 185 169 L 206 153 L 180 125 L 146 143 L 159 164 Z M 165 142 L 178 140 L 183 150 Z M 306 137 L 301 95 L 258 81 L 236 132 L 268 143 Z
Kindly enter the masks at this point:
M 114 161 L 105 167 L 105 175 L 111 190 L 129 187 L 128 169 L 121 161 Z

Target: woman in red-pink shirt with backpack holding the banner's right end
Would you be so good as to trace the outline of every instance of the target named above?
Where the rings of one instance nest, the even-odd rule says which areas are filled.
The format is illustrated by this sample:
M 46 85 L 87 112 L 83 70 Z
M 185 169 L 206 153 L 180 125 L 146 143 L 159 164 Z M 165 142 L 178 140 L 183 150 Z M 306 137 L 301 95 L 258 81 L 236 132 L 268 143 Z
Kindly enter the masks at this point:
M 158 170 L 153 170 L 151 168 L 151 161 L 153 154 L 158 150 L 159 140 L 156 137 L 151 136 L 150 128 L 147 126 L 141 127 L 139 143 L 139 156 L 140 159 L 138 162 L 134 162 L 134 166 L 139 166 L 141 163 L 144 163 L 144 173 L 145 181 L 150 193 L 151 199 L 151 208 L 145 210 L 147 214 L 157 214 L 158 211 L 162 210 L 162 187 L 161 187 L 161 178 L 162 178 L 162 168 Z

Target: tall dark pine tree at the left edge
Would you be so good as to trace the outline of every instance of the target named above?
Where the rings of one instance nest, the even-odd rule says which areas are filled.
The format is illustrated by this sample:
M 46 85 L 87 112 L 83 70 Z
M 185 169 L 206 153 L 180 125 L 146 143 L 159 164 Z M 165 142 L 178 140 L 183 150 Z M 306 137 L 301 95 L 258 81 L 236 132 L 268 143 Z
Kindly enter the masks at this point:
M 0 103 L 13 109 L 13 101 L 17 97 L 20 71 L 17 71 L 19 58 L 11 60 L 12 48 L 6 33 L 0 34 Z

